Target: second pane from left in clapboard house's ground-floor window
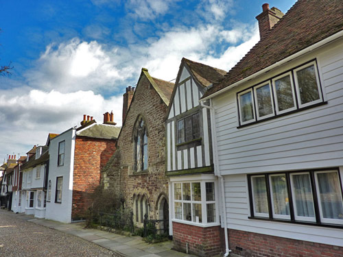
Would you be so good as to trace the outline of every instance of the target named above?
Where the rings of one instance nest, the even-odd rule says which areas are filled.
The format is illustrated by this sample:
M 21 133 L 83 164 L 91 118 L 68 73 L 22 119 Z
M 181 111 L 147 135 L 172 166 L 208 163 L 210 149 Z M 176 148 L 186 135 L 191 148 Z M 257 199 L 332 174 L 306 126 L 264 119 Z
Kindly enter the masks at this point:
M 272 204 L 275 215 L 289 215 L 288 192 L 285 175 L 272 175 Z

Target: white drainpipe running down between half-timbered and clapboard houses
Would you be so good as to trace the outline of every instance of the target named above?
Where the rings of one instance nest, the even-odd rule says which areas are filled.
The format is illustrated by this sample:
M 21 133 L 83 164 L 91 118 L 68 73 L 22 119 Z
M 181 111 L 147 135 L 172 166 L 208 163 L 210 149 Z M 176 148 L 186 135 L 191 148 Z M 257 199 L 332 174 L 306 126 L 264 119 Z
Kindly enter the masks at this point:
M 224 234 L 225 234 L 225 254 L 224 257 L 227 257 L 231 250 L 228 249 L 228 224 L 226 222 L 226 204 L 225 204 L 225 190 L 224 190 L 224 178 L 222 175 L 220 175 L 220 169 L 219 169 L 219 162 L 217 160 L 218 151 L 217 151 L 217 141 L 215 138 L 217 138 L 217 130 L 215 129 L 215 120 L 214 120 L 214 108 L 212 106 L 212 99 L 209 99 L 210 106 L 204 105 L 204 101 L 200 101 L 200 106 L 203 108 L 207 108 L 210 110 L 210 117 L 211 117 L 211 127 L 212 127 L 212 146 L 213 146 L 213 160 L 214 160 L 214 173 L 215 175 L 220 179 L 220 189 L 222 193 L 222 208 L 223 208 L 223 223 L 224 223 Z

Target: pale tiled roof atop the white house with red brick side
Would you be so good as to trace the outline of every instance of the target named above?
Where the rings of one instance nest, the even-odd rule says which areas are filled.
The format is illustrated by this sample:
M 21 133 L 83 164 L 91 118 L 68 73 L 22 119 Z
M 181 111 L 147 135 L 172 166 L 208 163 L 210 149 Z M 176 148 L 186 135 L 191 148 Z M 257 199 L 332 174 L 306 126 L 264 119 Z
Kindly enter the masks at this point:
M 114 125 L 95 124 L 86 127 L 81 132 L 77 132 L 78 136 L 86 136 L 90 138 L 116 139 L 119 136 L 121 127 Z

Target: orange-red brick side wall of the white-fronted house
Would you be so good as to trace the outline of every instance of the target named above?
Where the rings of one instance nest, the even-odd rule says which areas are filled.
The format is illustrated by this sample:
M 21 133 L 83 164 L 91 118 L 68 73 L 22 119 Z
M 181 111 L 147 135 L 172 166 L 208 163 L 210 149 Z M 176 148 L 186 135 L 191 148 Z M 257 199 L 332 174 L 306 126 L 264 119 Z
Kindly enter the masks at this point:
M 88 195 L 100 182 L 100 171 L 115 152 L 115 140 L 76 136 L 71 219 L 82 219 Z

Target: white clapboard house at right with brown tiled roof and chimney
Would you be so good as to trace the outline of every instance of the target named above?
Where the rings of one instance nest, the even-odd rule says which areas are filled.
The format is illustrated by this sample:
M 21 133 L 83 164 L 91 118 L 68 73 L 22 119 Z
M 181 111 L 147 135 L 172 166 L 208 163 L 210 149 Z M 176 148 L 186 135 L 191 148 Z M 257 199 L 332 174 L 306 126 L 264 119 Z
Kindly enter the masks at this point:
M 200 100 L 235 254 L 343 256 L 342 22 L 342 1 L 298 1 Z

